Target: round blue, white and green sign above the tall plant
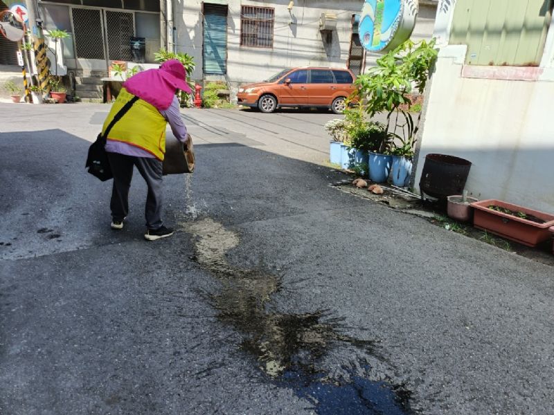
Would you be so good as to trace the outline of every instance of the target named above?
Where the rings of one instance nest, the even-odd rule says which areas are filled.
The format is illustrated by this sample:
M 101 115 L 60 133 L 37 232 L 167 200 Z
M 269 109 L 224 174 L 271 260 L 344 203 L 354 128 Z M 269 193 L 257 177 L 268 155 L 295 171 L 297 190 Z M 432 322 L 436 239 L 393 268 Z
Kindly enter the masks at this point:
M 418 15 L 418 0 L 365 0 L 359 37 L 370 52 L 385 53 L 408 40 Z

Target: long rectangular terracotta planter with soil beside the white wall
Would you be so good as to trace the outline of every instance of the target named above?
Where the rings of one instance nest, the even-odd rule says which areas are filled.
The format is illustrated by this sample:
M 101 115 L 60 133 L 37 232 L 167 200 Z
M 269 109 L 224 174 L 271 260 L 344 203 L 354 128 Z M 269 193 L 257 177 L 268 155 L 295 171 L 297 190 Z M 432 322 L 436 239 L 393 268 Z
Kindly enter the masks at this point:
M 544 223 L 537 223 L 511 214 L 497 212 L 496 210 L 489 209 L 490 205 L 512 210 L 513 212 L 524 212 L 525 214 L 542 219 Z M 547 241 L 551 237 L 551 232 L 548 228 L 554 226 L 554 215 L 552 214 L 546 214 L 494 199 L 475 202 L 472 203 L 472 206 L 475 208 L 473 224 L 476 228 L 531 247 L 537 246 L 538 243 Z

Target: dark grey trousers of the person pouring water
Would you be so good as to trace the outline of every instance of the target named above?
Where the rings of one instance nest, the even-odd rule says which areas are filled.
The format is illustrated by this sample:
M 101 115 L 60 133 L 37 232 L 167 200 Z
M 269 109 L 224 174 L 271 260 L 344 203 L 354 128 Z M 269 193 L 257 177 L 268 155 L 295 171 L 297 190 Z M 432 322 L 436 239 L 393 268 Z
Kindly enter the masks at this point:
M 133 166 L 139 170 L 148 185 L 146 196 L 146 227 L 158 229 L 161 221 L 161 161 L 157 158 L 125 156 L 125 154 L 107 153 L 111 172 L 114 174 L 114 187 L 111 190 L 111 217 L 114 221 L 123 221 L 129 214 L 129 187 L 133 177 Z

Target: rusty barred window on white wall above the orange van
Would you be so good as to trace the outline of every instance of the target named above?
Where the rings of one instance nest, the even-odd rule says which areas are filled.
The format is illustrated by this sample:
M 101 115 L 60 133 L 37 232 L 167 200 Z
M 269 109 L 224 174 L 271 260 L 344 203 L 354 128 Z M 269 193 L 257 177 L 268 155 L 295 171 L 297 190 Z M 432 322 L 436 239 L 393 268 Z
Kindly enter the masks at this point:
M 240 46 L 273 48 L 274 21 L 273 8 L 241 6 Z

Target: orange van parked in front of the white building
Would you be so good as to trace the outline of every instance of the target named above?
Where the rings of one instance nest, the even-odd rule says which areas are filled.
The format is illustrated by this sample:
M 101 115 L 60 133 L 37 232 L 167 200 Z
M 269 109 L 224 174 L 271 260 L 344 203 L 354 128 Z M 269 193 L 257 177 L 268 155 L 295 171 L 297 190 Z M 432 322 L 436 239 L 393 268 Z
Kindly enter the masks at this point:
M 283 107 L 320 107 L 339 114 L 355 91 L 354 80 L 344 68 L 289 68 L 265 82 L 240 86 L 238 104 L 265 113 Z

